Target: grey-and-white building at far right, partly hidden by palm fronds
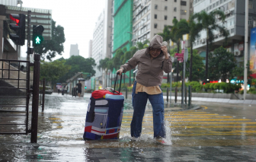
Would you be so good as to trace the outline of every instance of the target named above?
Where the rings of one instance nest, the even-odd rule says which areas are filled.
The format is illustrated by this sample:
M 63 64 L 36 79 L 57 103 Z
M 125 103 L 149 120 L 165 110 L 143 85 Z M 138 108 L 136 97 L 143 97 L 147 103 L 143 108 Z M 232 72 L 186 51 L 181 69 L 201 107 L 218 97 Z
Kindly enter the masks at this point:
M 248 36 L 252 27 L 256 25 L 256 0 L 248 1 Z M 217 24 L 223 25 L 229 30 L 228 45 L 224 46 L 229 52 L 235 55 L 238 65 L 243 65 L 245 50 L 245 0 L 195 0 L 194 13 L 200 11 L 221 10 L 226 14 L 225 23 L 218 21 Z M 225 38 L 221 36 L 219 31 L 214 31 L 215 40 L 213 41 L 213 49 L 223 46 Z M 250 39 L 248 39 L 250 40 Z M 248 43 L 249 44 L 249 43 Z M 249 45 L 248 45 L 249 46 Z M 200 55 L 205 57 L 206 51 L 206 31 L 200 32 L 200 37 L 194 43 L 194 49 L 200 51 Z M 248 59 L 250 58 L 248 48 Z

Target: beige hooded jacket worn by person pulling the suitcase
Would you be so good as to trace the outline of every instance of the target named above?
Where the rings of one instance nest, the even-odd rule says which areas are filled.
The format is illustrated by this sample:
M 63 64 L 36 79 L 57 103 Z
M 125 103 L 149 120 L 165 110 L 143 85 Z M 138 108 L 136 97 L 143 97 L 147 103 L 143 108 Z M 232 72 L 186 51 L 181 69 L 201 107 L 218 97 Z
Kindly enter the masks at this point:
M 121 65 L 123 73 L 130 71 L 138 65 L 138 73 L 136 75 L 136 81 L 146 87 L 158 86 L 162 84 L 162 78 L 165 71 L 171 72 L 171 56 L 165 59 L 164 53 L 161 52 L 155 59 L 150 59 L 149 48 L 160 49 L 163 39 L 159 35 L 155 35 L 150 41 L 149 47 L 137 51 L 133 57 Z

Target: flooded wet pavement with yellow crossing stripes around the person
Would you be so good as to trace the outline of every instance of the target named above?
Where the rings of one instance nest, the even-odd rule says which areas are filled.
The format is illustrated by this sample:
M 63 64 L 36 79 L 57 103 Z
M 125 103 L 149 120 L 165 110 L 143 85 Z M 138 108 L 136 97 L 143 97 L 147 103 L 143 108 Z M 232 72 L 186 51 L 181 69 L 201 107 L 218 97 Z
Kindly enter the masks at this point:
M 46 95 L 38 119 L 38 144 L 30 144 L 30 135 L 0 135 L 0 161 L 256 161 L 256 105 L 197 101 L 199 110 L 183 110 L 165 104 L 165 128 L 172 145 L 164 146 L 153 139 L 150 104 L 141 138 L 131 140 L 130 100 L 120 139 L 83 141 L 89 97 Z

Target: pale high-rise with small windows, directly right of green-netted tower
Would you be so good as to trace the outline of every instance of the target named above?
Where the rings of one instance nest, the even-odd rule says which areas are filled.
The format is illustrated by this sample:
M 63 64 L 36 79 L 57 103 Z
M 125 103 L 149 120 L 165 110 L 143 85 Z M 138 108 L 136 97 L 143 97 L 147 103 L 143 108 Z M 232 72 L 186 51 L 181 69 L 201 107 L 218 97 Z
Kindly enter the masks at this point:
M 174 18 L 188 20 L 190 5 L 190 0 L 134 0 L 133 46 L 162 33 L 165 26 L 173 25 Z

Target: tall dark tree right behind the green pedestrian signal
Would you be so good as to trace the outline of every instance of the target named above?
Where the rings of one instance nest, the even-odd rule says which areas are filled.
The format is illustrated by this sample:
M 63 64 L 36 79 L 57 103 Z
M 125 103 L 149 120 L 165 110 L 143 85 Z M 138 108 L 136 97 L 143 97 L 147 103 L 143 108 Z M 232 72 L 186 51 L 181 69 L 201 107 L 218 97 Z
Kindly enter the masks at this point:
M 52 40 L 44 40 L 40 46 L 34 47 L 34 51 L 41 55 L 41 59 L 51 61 L 56 55 L 62 55 L 64 52 L 65 40 L 64 27 L 56 27 L 56 21 L 52 19 Z

